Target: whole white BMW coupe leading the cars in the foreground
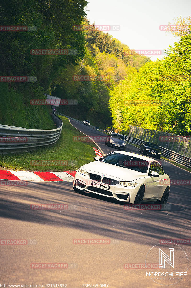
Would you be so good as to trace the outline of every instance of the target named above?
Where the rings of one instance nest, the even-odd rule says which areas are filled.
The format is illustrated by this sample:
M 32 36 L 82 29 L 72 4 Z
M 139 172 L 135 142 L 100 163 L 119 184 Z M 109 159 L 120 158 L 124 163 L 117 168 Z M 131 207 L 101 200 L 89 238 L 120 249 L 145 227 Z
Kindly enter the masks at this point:
M 73 188 L 115 200 L 140 205 L 142 202 L 166 204 L 170 178 L 161 164 L 146 156 L 123 151 L 97 156 L 78 169 Z

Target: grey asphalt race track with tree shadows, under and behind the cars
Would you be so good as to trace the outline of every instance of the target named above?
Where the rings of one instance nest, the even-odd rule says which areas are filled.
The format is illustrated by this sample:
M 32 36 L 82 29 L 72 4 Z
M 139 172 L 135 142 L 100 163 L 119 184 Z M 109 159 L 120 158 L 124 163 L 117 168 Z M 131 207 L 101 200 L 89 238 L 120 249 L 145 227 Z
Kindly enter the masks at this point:
M 104 135 L 77 122 L 71 123 L 88 136 Z M 117 150 L 104 142 L 98 145 L 105 154 Z M 126 151 L 138 153 L 138 148 L 127 145 Z M 191 179 L 191 173 L 161 162 L 171 179 Z M 146 277 L 145 269 L 124 269 L 124 264 L 144 264 L 148 251 L 159 239 L 191 238 L 189 185 L 171 186 L 169 211 L 124 210 L 123 203 L 110 198 L 74 192 L 72 182 L 28 182 L 25 187 L 1 186 L 0 191 L 1 239 L 26 239 L 29 243 L 1 245 L 0 284 L 8 287 L 9 284 L 41 287 L 65 284 L 62 287 L 68 288 L 96 287 L 92 284 L 111 288 L 161 287 Z M 68 209 L 30 208 L 31 204 L 39 203 L 67 204 Z M 79 238 L 109 239 L 110 244 L 73 244 L 73 239 Z M 189 261 L 190 244 L 179 245 Z M 177 260 L 175 254 L 175 261 L 185 269 L 184 255 L 180 254 Z M 68 268 L 34 269 L 30 268 L 31 263 L 67 263 Z M 188 276 L 173 287 L 190 286 L 189 267 Z

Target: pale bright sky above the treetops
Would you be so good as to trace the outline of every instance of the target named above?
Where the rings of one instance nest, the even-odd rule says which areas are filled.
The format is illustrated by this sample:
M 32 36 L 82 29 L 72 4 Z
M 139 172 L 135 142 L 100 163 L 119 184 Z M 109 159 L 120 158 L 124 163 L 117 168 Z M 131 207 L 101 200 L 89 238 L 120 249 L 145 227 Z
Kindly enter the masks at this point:
M 87 18 L 95 25 L 117 25 L 108 31 L 134 50 L 165 50 L 180 37 L 160 31 L 160 25 L 191 15 L 191 0 L 87 0 Z M 103 31 L 103 30 L 102 30 Z M 107 33 L 107 31 L 103 31 Z M 157 53 L 157 52 L 155 52 Z M 151 56 L 151 60 L 164 56 Z

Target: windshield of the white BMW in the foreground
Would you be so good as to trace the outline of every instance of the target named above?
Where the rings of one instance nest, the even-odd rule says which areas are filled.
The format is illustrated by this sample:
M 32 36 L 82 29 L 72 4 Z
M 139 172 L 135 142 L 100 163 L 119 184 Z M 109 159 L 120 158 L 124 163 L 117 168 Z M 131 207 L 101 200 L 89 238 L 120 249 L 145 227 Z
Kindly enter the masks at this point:
M 101 158 L 99 161 L 141 173 L 147 172 L 149 164 L 148 161 L 143 159 L 115 152 L 112 152 L 111 154 Z

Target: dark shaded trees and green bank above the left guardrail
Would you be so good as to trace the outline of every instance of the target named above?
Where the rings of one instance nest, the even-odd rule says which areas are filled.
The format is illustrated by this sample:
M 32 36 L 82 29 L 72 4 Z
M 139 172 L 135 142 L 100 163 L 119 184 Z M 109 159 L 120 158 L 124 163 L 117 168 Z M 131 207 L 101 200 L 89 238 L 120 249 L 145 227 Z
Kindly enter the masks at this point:
M 85 0 L 18 0 L 0 2 L 4 26 L 37 26 L 33 32 L 0 33 L 0 75 L 32 75 L 37 82 L 0 85 L 1 124 L 50 128 L 46 106 L 30 107 L 30 99 L 44 99 L 60 67 L 74 65 L 84 56 L 84 35 L 72 26 L 84 19 Z M 32 49 L 76 49 L 77 55 L 31 55 Z M 6 88 L 5 88 L 6 87 Z M 17 101 L 18 99 L 18 101 Z M 5 115 L 8 113 L 8 115 Z M 40 113 L 42 119 L 40 119 Z M 20 116 L 19 116 L 20 115 Z M 21 125 L 21 124 L 22 125 Z

